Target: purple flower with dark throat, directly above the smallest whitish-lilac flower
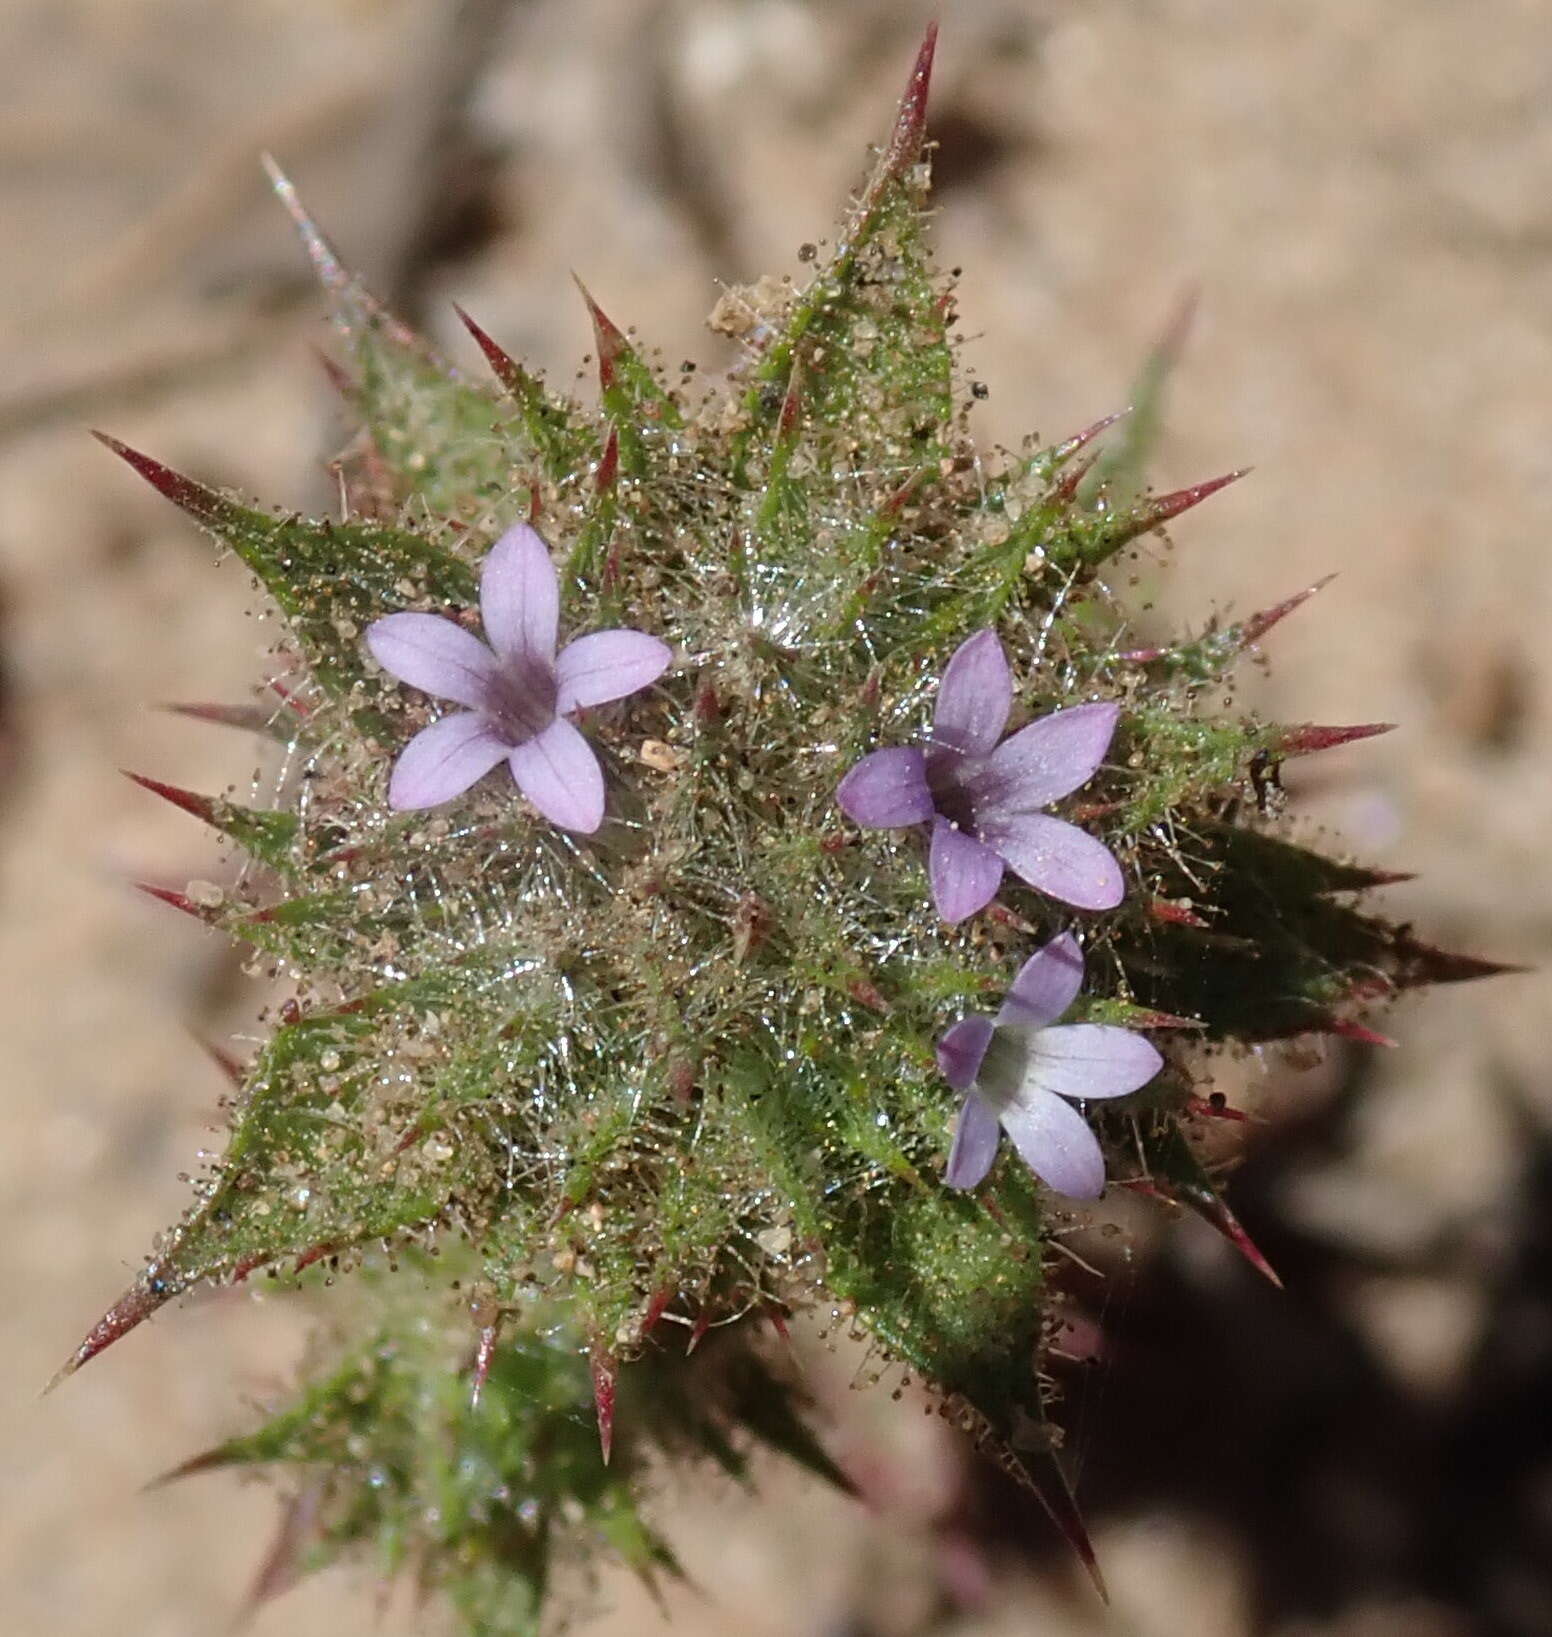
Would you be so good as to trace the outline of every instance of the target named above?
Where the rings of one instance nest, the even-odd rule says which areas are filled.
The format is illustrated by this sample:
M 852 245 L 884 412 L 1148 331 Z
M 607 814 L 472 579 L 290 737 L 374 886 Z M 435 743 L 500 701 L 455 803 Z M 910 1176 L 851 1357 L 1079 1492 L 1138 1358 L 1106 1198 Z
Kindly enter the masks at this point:
M 946 922 L 986 909 L 1004 866 L 1082 910 L 1121 902 L 1121 866 L 1102 841 L 1040 809 L 1099 771 L 1120 710 L 1074 706 L 1002 738 L 1013 678 L 994 630 L 956 650 L 938 683 L 925 750 L 876 750 L 841 779 L 841 810 L 869 830 L 930 823 L 927 874 Z

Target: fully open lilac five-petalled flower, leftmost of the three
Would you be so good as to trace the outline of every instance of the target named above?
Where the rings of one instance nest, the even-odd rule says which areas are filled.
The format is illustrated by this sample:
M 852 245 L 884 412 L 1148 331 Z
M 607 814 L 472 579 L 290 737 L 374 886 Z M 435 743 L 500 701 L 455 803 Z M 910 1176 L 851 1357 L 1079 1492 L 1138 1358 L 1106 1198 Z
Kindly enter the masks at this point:
M 385 671 L 467 707 L 399 751 L 388 805 L 437 807 L 506 761 L 550 823 L 591 835 L 604 820 L 604 771 L 566 717 L 656 681 L 673 658 L 668 645 L 640 630 L 596 630 L 557 653 L 560 579 L 526 522 L 486 553 L 480 616 L 490 647 L 437 614 L 388 614 L 367 627 Z

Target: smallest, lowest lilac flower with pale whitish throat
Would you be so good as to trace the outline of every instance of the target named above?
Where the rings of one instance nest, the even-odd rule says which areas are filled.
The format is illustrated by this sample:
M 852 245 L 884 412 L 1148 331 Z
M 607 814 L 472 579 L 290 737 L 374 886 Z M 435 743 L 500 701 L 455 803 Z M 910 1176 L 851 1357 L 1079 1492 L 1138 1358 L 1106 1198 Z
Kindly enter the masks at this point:
M 1110 1023 L 1051 1025 L 1084 984 L 1084 954 L 1062 933 L 1025 961 L 995 1018 L 961 1018 L 938 1041 L 938 1067 L 964 1107 L 943 1180 L 972 1188 L 992 1169 L 999 1128 L 1046 1187 L 1099 1198 L 1105 1157 L 1067 1097 L 1125 1097 L 1164 1059 L 1141 1035 Z

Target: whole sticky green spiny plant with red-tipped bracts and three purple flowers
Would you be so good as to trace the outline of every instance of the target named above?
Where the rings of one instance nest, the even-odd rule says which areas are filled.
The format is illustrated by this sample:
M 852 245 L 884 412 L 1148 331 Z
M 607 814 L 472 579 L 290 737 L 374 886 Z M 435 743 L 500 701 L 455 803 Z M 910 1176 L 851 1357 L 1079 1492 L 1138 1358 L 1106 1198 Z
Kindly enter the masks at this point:
M 1498 969 L 1282 830 L 1279 764 L 1382 730 L 1225 707 L 1308 591 L 1130 635 L 1118 568 L 1233 476 L 1139 486 L 1172 344 L 1130 424 L 972 442 L 932 57 L 828 260 L 727 293 L 711 388 L 586 291 L 596 406 L 465 316 L 478 385 L 277 172 L 360 422 L 345 521 L 105 439 L 282 620 L 278 704 L 187 707 L 273 740 L 273 800 L 141 782 L 242 859 L 157 895 L 288 992 L 224 1156 L 62 1373 L 198 1283 L 360 1269 L 293 1401 L 180 1468 L 293 1473 L 260 1590 L 363 1552 L 527 1632 L 558 1563 L 673 1567 L 665 1459 L 765 1444 L 845 1483 L 758 1344 L 797 1308 L 918 1378 L 1092 1568 L 1044 1370 L 1066 1200 L 1108 1167 L 1270 1274 L 1198 1157 L 1203 1048 L 1377 1039 L 1374 1002 Z

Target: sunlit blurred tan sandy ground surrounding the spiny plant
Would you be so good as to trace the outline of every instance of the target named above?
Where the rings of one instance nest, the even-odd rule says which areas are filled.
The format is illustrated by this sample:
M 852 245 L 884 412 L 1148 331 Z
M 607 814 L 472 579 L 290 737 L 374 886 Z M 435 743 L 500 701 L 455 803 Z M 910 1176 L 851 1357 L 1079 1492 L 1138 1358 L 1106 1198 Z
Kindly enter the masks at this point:
M 938 242 L 964 267 L 984 434 L 1059 435 L 1120 406 L 1198 285 L 1156 476 L 1256 471 L 1175 530 L 1161 606 L 1200 622 L 1338 570 L 1279 630 L 1257 696 L 1293 720 L 1403 727 L 1300 771 L 1302 810 L 1419 871 L 1388 902 L 1423 931 L 1545 963 L 1552 10 L 936 10 Z M 219 1039 L 255 1003 L 228 951 L 126 889 L 216 866 L 190 820 L 116 771 L 198 789 L 250 776 L 247 745 L 152 709 L 246 697 L 250 591 L 83 427 L 267 501 L 331 503 L 321 303 L 260 149 L 460 359 L 452 300 L 565 381 L 589 344 L 576 268 L 670 360 L 714 367 L 701 321 L 717 280 L 796 272 L 797 247 L 832 231 L 927 15 L 917 0 L 0 0 L 7 1632 L 228 1629 L 270 1493 L 138 1491 L 241 1426 L 300 1336 L 288 1303 L 221 1295 L 36 1398 L 211 1141 L 221 1082 L 190 1031 Z M 1282 1202 L 1306 1234 L 1374 1252 L 1338 1298 L 1410 1403 L 1447 1401 L 1473 1369 L 1523 1226 L 1534 1120 L 1516 1110 L 1552 1115 L 1545 1005 L 1547 979 L 1524 976 L 1396 1012 L 1383 1026 L 1403 1044 L 1364 1066 L 1352 1144 Z M 1203 1288 L 1252 1278 L 1202 1224 L 1149 1254 Z M 1285 1300 L 1297 1323 L 1306 1303 Z M 1532 1360 L 1552 1355 L 1534 1323 Z M 814 1369 L 843 1385 L 850 1365 Z M 1213 1390 L 1239 1387 L 1226 1373 Z M 1053 1560 L 999 1570 L 979 1612 L 935 1624 L 922 1542 L 950 1481 L 941 1439 L 887 1395 L 823 1391 L 838 1441 L 871 1452 L 876 1504 L 784 1475 L 763 1506 L 681 1496 L 671 1532 L 702 1593 L 670 1594 L 674 1630 L 1477 1629 L 1387 1585 L 1320 1619 L 1257 1616 L 1233 1526 L 1148 1498 L 1094 1517 L 1108 1611 Z M 1203 1406 L 1195 1437 L 1228 1437 L 1220 1421 Z M 1526 1480 L 1544 1529 L 1549 1472 Z M 1552 1611 L 1514 1624 L 1537 1617 L 1536 1586 L 1500 1591 L 1506 1624 L 1485 1609 L 1482 1630 L 1552 1627 Z M 598 1629 L 658 1629 L 635 1588 L 619 1596 Z M 331 1575 L 252 1630 L 427 1629 L 403 1599 L 375 1619 L 372 1588 Z

